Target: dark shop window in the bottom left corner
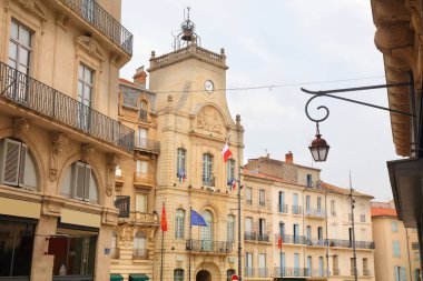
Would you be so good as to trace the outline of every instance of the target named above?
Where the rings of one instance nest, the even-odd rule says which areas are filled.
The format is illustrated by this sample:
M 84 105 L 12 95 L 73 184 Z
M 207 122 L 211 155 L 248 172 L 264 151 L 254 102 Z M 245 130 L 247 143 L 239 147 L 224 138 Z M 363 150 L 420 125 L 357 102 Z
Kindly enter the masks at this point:
M 0 221 L 0 279 L 28 277 L 29 280 L 35 228 L 36 224 L 28 222 Z

